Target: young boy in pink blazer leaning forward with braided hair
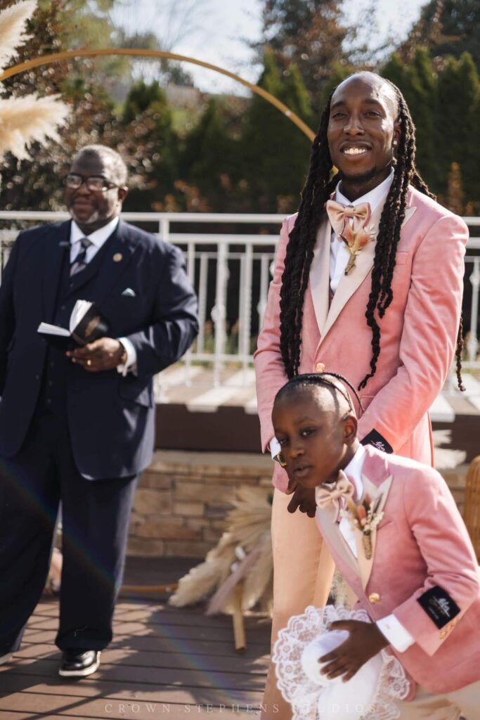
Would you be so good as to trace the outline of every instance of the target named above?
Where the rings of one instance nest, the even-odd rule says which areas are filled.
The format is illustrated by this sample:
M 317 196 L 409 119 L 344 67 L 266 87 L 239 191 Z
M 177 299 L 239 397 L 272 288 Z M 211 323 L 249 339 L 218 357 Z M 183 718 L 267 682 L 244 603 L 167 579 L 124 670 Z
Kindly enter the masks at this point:
M 289 482 L 314 489 L 320 533 L 372 621 L 332 624 L 350 634 L 322 672 L 349 680 L 390 645 L 411 681 L 402 720 L 476 720 L 480 573 L 466 527 L 435 469 L 359 443 L 343 382 L 298 375 L 272 414 Z

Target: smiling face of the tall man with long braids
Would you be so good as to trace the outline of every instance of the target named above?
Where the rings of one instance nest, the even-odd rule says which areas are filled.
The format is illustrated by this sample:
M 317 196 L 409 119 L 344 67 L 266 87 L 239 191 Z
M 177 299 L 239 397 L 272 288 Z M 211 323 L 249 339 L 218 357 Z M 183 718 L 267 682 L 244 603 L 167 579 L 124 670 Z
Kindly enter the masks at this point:
M 330 104 L 327 139 L 342 179 L 359 184 L 388 176 L 393 142 L 400 135 L 397 112 L 394 90 L 372 73 L 358 73 L 338 86 Z

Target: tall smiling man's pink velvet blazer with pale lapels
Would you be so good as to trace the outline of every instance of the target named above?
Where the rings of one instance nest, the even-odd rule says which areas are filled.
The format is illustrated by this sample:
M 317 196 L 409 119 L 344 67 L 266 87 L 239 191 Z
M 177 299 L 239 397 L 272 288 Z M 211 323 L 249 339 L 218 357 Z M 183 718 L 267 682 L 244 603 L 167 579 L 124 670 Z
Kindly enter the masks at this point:
M 377 227 L 382 209 L 383 204 L 372 216 Z M 281 228 L 255 352 L 264 451 L 274 436 L 273 400 L 287 379 L 280 354 L 280 289 L 295 219 L 296 215 L 286 218 Z M 299 372 L 316 372 L 317 364 L 322 364 L 326 372 L 339 372 L 358 387 L 370 371 L 372 355 L 365 312 L 375 243 L 368 243 L 357 256 L 355 269 L 342 276 L 329 307 L 331 232 L 325 216 L 305 294 Z M 427 464 L 433 463 L 427 411 L 443 387 L 456 347 L 467 240 L 468 228 L 460 217 L 409 189 L 391 285 L 394 299 L 379 320 L 381 354 L 376 374 L 361 392 L 365 413 L 358 436 L 363 439 L 375 430 L 395 453 Z M 276 465 L 273 484 L 285 490 L 286 473 Z

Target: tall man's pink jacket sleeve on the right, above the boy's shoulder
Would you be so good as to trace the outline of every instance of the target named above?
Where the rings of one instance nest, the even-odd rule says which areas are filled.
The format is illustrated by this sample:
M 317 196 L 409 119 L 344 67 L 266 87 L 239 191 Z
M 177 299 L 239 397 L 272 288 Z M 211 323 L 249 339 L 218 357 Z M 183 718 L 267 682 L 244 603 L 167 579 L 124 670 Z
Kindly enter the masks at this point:
M 375 428 L 397 451 L 440 393 L 456 347 L 467 240 L 468 228 L 463 220 L 445 215 L 418 246 L 404 315 L 399 369 L 360 418 L 358 437 L 364 438 Z

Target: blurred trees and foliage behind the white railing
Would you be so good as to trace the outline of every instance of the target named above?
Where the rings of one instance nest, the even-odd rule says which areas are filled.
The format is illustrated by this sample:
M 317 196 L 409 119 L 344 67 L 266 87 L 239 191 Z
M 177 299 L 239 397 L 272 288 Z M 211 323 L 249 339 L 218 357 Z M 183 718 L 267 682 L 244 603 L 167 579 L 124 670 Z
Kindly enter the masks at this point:
M 184 0 L 171 3 L 180 12 Z M 0 9 L 10 4 L 0 0 Z M 32 40 L 12 64 L 80 47 L 173 48 L 173 36 L 128 35 L 114 22 L 114 4 L 40 0 Z M 372 40 L 368 13 L 363 26 L 353 27 L 342 5 L 263 0 L 262 37 L 250 42 L 263 65 L 258 84 L 316 130 L 332 87 L 357 69 L 378 71 L 407 99 L 417 125 L 417 165 L 430 189 L 455 212 L 478 214 L 479 0 L 431 0 L 406 40 L 381 48 Z M 190 0 L 184 10 L 177 33 L 188 32 L 187 19 L 194 23 L 201 0 Z M 61 144 L 32 148 L 31 160 L 19 164 L 7 158 L 1 209 L 62 207 L 62 176 L 73 153 L 99 142 L 117 148 L 129 165 L 126 210 L 294 212 L 309 140 L 256 95 L 201 93 L 188 66 L 161 62 L 154 68 L 128 58 L 73 60 L 6 81 L 4 96 L 12 89 L 57 93 L 73 112 Z

